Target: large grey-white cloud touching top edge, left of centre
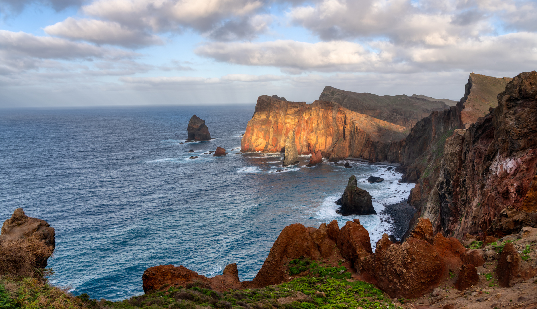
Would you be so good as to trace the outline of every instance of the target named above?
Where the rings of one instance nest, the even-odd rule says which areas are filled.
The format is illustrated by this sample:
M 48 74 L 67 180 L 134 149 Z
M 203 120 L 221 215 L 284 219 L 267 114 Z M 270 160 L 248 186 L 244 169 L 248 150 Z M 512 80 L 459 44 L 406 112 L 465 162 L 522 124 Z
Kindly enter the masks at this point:
M 82 11 L 128 29 L 153 33 L 193 29 L 216 40 L 252 38 L 269 18 L 260 0 L 97 0 Z

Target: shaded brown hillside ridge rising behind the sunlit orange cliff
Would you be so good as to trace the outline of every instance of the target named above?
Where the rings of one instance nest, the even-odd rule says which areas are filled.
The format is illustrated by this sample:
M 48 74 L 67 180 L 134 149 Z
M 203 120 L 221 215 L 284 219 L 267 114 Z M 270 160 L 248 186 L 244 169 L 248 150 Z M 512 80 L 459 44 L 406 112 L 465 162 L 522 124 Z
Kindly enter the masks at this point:
M 413 127 L 419 120 L 433 111 L 443 111 L 449 106 L 441 100 L 432 101 L 429 97 L 419 96 L 378 96 L 324 87 L 320 101 L 336 102 L 351 111 L 366 114 L 389 123 Z

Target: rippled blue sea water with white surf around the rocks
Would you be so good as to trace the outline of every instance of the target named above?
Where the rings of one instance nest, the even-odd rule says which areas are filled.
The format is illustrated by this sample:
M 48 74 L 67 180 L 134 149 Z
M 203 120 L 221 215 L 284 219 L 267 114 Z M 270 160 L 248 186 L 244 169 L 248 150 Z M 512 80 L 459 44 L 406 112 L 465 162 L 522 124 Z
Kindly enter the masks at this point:
M 214 276 L 237 263 L 240 279 L 251 280 L 289 224 L 359 218 L 373 245 L 389 233 L 379 215 L 342 217 L 334 202 L 353 174 L 378 212 L 404 200 L 411 184 L 396 185 L 401 175 L 383 164 L 308 168 L 307 156 L 276 173 L 280 154 L 236 154 L 253 109 L 2 110 L 0 219 L 23 207 L 47 220 L 56 231 L 54 284 L 109 300 L 142 294 L 143 271 L 159 264 Z M 180 144 L 193 114 L 214 140 Z M 217 146 L 229 154 L 206 154 Z M 365 182 L 381 174 L 386 181 Z

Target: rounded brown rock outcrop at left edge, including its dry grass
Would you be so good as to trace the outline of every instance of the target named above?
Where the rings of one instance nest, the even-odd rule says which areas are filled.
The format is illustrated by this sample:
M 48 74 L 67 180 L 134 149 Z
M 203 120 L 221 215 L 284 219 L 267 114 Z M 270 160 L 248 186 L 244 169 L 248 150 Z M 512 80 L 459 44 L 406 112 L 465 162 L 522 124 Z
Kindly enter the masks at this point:
M 22 208 L 16 209 L 2 225 L 0 273 L 25 274 L 34 268 L 45 268 L 54 251 L 54 236 L 54 228 L 47 221 L 28 217 Z

